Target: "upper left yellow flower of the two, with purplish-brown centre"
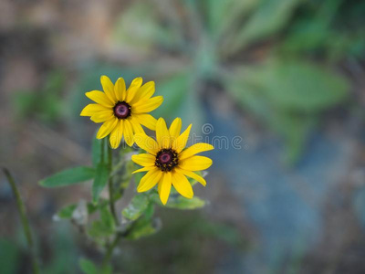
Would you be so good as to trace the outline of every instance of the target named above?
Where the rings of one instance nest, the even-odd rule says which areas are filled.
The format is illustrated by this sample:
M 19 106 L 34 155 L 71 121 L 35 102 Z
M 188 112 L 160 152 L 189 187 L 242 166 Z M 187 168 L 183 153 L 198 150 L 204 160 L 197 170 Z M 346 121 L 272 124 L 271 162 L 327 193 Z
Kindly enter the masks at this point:
M 119 147 L 122 136 L 131 146 L 134 134 L 144 133 L 141 125 L 155 130 L 157 120 L 148 112 L 157 109 L 163 98 L 151 98 L 154 93 L 153 81 L 142 86 L 141 77 L 133 79 L 128 90 L 122 78 L 115 85 L 107 76 L 101 76 L 100 81 L 104 92 L 86 92 L 86 96 L 96 103 L 87 105 L 80 114 L 90 116 L 91 121 L 103 123 L 97 134 L 98 139 L 110 134 L 110 146 L 115 149 Z

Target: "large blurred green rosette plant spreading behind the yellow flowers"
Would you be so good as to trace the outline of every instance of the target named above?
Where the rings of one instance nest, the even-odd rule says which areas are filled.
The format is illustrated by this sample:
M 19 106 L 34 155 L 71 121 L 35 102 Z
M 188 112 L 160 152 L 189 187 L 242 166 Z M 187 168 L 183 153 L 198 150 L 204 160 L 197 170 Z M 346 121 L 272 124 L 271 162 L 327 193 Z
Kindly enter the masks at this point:
M 129 80 L 130 72 L 154 79 L 165 98 L 155 115 L 172 119 L 177 111 L 197 131 L 201 101 L 211 93 L 206 83 L 213 81 L 277 132 L 287 163 L 295 163 L 322 114 L 348 98 L 348 79 L 335 67 L 363 56 L 364 13 L 363 3 L 344 0 L 135 1 L 120 14 L 113 37 L 141 61 L 104 70 L 95 64 L 77 89 L 90 90 L 83 83 L 105 69 L 115 79 Z

